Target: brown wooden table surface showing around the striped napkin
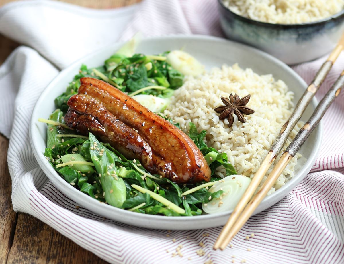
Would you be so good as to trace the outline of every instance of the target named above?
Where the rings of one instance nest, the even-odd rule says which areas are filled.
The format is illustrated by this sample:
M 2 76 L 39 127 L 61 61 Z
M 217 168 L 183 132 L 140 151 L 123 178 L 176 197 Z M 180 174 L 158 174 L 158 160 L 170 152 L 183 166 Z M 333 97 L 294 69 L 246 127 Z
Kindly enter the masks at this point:
M 0 7 L 13 0 L 0 0 Z M 90 8 L 116 8 L 140 0 L 62 0 Z M 0 65 L 19 44 L 0 35 Z M 41 220 L 13 211 L 8 171 L 8 139 L 0 134 L 0 264 L 107 263 Z

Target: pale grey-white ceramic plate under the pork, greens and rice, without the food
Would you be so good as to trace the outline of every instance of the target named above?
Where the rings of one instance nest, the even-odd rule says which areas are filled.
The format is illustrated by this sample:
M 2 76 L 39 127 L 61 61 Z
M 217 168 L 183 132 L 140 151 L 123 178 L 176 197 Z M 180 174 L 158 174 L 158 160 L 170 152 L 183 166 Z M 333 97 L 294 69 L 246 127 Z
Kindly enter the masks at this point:
M 46 147 L 46 125 L 38 122 L 37 119 L 39 117 L 47 118 L 55 110 L 55 97 L 65 91 L 66 86 L 78 72 L 81 64 L 86 64 L 88 67 L 102 65 L 104 60 L 114 54 L 121 45 L 121 43 L 116 43 L 74 62 L 71 66 L 61 71 L 41 94 L 34 107 L 30 123 L 31 146 L 40 167 L 53 184 L 66 196 L 73 199 L 80 206 L 101 216 L 105 216 L 108 219 L 140 227 L 170 230 L 200 229 L 224 225 L 231 213 L 230 211 L 213 215 L 168 217 L 139 214 L 100 203 L 98 200 L 69 185 L 45 159 L 43 152 Z M 257 49 L 220 38 L 208 36 L 148 38 L 142 41 L 137 52 L 157 54 L 166 50 L 180 49 L 181 47 L 185 47 L 185 51 L 194 55 L 207 69 L 214 66 L 221 66 L 222 64 L 232 65 L 238 62 L 240 67 L 252 68 L 259 74 L 272 73 L 276 79 L 282 79 L 287 83 L 290 90 L 295 93 L 295 101 L 302 95 L 307 86 L 297 73 L 276 58 Z M 303 120 L 308 119 L 315 105 L 316 100 L 313 99 L 303 115 Z M 305 159 L 300 159 L 298 162 L 298 168 L 295 169 L 295 176 L 285 186 L 267 196 L 258 206 L 255 214 L 281 200 L 308 174 L 320 148 L 320 126 L 314 130 L 300 149 L 300 153 Z

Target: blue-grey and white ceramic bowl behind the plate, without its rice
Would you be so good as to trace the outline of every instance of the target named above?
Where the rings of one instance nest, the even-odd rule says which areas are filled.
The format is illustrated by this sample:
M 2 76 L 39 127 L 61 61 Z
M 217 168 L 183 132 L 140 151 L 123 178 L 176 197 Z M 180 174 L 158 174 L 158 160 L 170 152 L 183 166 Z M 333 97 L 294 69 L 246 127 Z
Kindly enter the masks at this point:
M 220 23 L 229 39 L 242 42 L 293 65 L 329 53 L 344 32 L 344 10 L 316 22 L 271 24 L 237 15 L 218 0 Z

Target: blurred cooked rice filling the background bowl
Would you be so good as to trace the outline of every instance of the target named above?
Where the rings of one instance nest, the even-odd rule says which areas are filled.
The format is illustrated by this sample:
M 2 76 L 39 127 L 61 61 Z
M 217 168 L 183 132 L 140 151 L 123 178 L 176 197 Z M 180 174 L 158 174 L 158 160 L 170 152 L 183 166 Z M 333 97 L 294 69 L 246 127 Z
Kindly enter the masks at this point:
M 328 18 L 344 8 L 344 0 L 223 0 L 232 12 L 273 24 L 302 24 Z

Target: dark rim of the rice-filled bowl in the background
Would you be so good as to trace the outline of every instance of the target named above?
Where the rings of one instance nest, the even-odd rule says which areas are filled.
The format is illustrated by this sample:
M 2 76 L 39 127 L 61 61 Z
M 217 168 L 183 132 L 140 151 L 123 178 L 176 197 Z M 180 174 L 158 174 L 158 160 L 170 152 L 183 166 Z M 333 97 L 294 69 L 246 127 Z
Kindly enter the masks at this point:
M 224 12 L 227 12 L 228 14 L 233 15 L 236 19 L 242 20 L 246 23 L 256 24 L 259 26 L 270 27 L 270 28 L 275 28 L 275 29 L 293 29 L 293 28 L 320 26 L 320 25 L 324 25 L 328 22 L 331 22 L 333 20 L 344 18 L 344 8 L 343 8 L 340 12 L 335 13 L 334 15 L 331 15 L 327 18 L 323 18 L 321 20 L 317 20 L 317 21 L 313 21 L 313 22 L 300 23 L 300 24 L 274 24 L 274 23 L 268 23 L 268 22 L 253 20 L 250 18 L 246 18 L 245 16 L 238 15 L 237 13 L 235 13 L 232 10 L 230 10 L 229 8 L 227 8 L 224 5 L 223 0 L 217 0 L 217 2 L 219 3 L 219 7 L 221 7 L 224 10 Z

